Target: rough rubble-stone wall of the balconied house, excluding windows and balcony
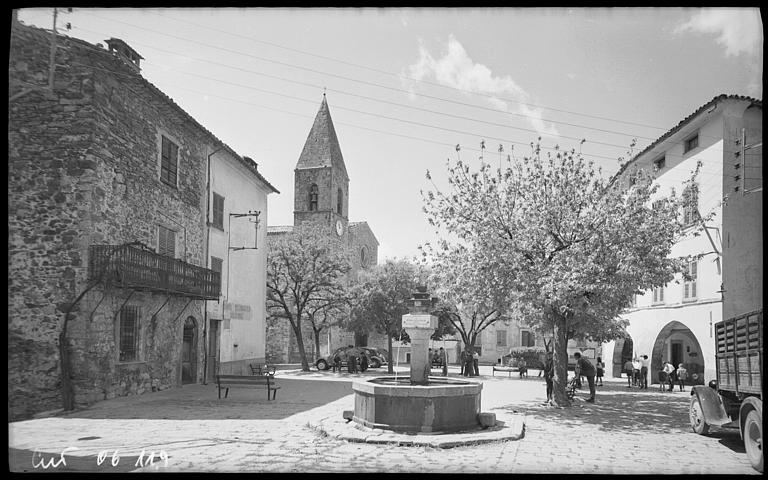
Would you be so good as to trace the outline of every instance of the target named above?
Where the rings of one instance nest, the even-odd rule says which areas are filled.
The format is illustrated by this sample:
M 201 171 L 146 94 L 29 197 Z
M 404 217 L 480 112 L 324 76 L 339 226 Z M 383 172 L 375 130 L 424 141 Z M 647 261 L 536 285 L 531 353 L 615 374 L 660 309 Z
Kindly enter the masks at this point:
M 58 335 L 63 309 L 87 282 L 88 246 L 141 241 L 158 225 L 177 231 L 177 258 L 205 265 L 205 162 L 209 132 L 106 50 L 59 37 L 54 91 L 50 34 L 13 25 L 9 58 L 9 416 L 60 408 Z M 15 97 L 14 97 L 15 96 Z M 159 180 L 159 139 L 179 145 L 178 187 Z M 106 294 L 105 294 L 106 293 Z M 70 322 L 76 400 L 142 393 L 180 383 L 184 319 L 202 302 L 136 294 L 143 358 L 117 364 L 116 312 L 129 291 L 95 289 Z M 98 305 L 96 312 L 94 308 Z M 186 306 L 185 306 L 186 305 Z M 183 309 L 183 312 L 182 312 Z M 176 319 L 179 313 L 181 317 Z M 93 315 L 92 315 L 93 313 Z M 119 322 L 117 322 L 119 323 Z

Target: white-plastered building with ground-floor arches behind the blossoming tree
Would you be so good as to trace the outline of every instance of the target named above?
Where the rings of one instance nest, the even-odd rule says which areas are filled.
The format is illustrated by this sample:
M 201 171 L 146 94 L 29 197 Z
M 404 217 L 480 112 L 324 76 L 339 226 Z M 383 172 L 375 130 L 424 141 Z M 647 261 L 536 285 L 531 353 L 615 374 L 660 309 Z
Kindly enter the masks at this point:
M 680 214 L 688 227 L 671 254 L 698 259 L 687 265 L 688 279 L 678 275 L 635 297 L 624 313 L 629 337 L 603 346 L 607 376 L 620 376 L 627 358 L 648 355 L 653 382 L 658 382 L 662 362 L 669 360 L 675 366 L 683 363 L 693 383 L 706 383 L 715 376 L 713 325 L 762 309 L 762 109 L 761 100 L 719 95 L 621 172 L 627 188 L 633 169 L 645 168 L 656 172 L 660 194 L 672 187 L 682 193 L 687 204 Z M 745 142 L 758 148 L 742 156 Z M 701 173 L 696 184 L 684 185 L 697 162 Z M 752 192 L 743 195 L 745 188 Z M 714 217 L 705 224 L 701 216 L 709 212 Z

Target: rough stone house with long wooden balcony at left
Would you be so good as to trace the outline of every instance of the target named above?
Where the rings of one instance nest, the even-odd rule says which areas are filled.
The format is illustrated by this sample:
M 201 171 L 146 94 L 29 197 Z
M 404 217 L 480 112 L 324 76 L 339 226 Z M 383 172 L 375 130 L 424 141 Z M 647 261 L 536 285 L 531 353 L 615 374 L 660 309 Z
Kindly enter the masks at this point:
M 78 405 L 200 382 L 221 293 L 208 162 L 223 149 L 259 176 L 107 44 L 12 22 L 10 419 L 62 407 L 61 336 Z

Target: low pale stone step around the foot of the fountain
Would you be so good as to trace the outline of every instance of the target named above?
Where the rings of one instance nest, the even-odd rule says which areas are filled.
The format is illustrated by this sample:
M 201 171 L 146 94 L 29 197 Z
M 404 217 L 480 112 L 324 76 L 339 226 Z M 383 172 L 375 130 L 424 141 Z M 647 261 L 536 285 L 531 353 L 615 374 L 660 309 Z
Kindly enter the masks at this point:
M 341 413 L 311 420 L 307 425 L 320 435 L 347 442 L 397 446 L 453 448 L 483 443 L 515 441 L 523 438 L 525 433 L 524 415 L 497 411 L 492 413 L 496 415 L 494 426 L 456 433 L 398 433 L 380 428 L 369 428 L 353 420 L 345 419 Z

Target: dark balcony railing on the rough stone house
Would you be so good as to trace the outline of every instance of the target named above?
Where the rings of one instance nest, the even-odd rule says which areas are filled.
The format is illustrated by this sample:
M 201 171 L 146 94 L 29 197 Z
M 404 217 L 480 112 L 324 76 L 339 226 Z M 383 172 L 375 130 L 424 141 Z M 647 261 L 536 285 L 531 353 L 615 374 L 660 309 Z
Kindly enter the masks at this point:
M 219 298 L 221 274 L 133 245 L 91 245 L 90 280 L 206 300 Z

